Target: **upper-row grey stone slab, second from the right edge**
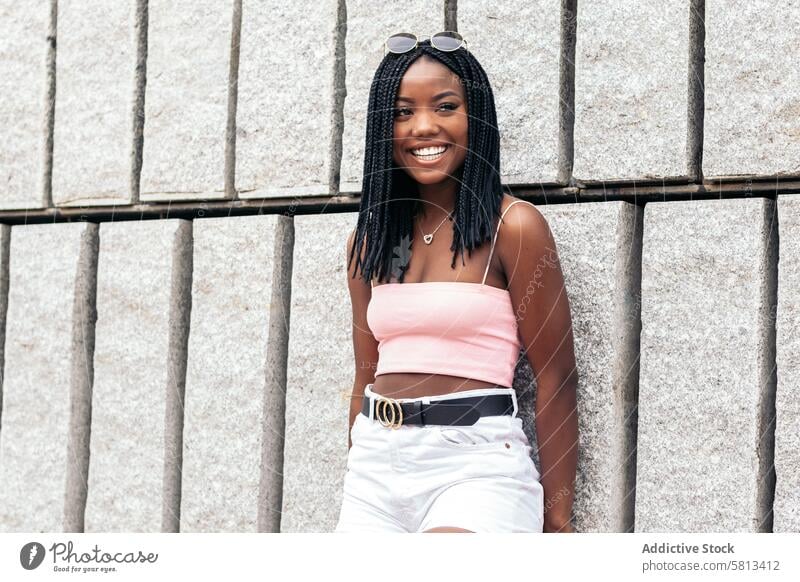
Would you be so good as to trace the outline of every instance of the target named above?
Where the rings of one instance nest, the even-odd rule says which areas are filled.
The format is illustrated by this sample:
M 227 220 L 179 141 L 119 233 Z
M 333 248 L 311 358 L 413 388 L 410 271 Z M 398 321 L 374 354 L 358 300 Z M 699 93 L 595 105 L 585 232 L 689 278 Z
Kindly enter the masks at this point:
M 578 4 L 576 179 L 686 174 L 688 17 L 688 0 Z

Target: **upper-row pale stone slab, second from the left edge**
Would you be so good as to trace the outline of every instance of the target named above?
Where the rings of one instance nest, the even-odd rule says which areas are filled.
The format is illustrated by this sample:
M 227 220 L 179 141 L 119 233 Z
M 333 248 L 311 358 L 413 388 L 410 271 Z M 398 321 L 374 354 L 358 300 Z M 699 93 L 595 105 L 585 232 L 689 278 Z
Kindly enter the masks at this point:
M 130 199 L 136 2 L 58 2 L 53 203 Z

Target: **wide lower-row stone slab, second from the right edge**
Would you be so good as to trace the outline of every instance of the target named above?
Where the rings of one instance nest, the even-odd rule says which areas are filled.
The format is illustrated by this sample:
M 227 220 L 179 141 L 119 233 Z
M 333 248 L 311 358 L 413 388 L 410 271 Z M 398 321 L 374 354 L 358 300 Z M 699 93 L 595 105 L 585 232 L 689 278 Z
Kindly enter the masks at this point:
M 764 531 L 772 204 L 645 208 L 636 531 Z

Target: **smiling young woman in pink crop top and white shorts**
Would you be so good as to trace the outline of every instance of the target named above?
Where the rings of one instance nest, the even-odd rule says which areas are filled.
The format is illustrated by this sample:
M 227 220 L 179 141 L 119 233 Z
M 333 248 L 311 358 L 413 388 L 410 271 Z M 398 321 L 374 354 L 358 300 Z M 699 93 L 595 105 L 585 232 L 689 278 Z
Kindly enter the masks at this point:
M 494 96 L 461 37 L 386 45 L 347 241 L 356 374 L 336 531 L 574 531 L 577 374 L 552 234 L 503 194 Z M 512 386 L 523 356 L 541 474 Z

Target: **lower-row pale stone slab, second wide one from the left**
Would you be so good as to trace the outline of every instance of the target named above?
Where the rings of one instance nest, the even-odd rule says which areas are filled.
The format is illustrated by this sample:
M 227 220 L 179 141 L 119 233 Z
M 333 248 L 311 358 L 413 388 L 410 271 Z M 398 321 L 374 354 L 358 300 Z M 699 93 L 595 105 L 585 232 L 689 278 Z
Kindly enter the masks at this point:
M 87 532 L 161 531 L 170 282 L 181 267 L 173 257 L 181 224 L 189 226 L 100 226 Z

